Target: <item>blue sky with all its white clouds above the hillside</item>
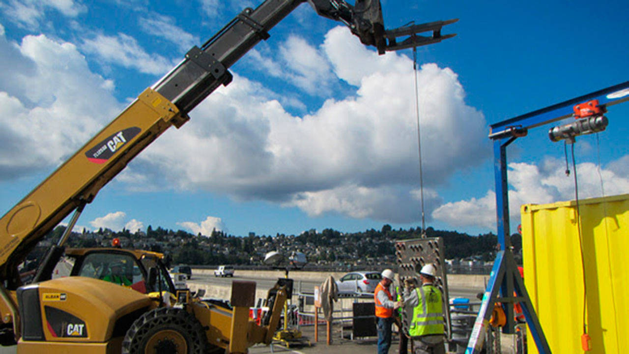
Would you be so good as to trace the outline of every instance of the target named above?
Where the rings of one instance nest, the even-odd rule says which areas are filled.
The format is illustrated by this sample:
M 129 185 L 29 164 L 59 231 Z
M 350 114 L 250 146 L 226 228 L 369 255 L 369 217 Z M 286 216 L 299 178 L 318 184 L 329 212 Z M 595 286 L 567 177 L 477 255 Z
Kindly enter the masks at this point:
M 8 211 L 147 86 L 260 1 L 0 2 L 0 209 Z M 629 79 L 626 1 L 382 0 L 394 28 L 460 18 L 420 47 L 427 226 L 495 232 L 490 123 Z M 235 79 L 100 191 L 79 227 L 208 234 L 421 225 L 412 52 L 378 56 L 302 4 Z M 629 105 L 575 146 L 581 197 L 629 193 Z M 511 214 L 569 200 L 564 145 L 509 147 Z M 600 165 L 598 164 L 600 161 Z M 572 169 L 572 167 L 571 167 Z M 599 173 L 600 169 L 600 173 Z

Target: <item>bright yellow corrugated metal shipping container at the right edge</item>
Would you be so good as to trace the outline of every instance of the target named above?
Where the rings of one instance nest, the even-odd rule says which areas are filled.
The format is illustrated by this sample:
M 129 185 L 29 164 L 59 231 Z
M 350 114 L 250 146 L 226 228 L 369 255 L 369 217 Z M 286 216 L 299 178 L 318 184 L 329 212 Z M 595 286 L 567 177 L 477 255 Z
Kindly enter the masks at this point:
M 584 353 L 584 311 L 588 354 L 629 353 L 629 194 L 579 210 L 581 242 L 574 200 L 521 207 L 526 290 L 552 353 Z

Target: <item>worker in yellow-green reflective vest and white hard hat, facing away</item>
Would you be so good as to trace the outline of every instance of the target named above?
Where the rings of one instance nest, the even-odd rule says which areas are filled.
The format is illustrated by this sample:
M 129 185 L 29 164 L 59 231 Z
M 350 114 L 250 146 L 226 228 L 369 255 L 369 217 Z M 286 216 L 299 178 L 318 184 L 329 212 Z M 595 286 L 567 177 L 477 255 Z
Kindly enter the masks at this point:
M 404 284 L 404 311 L 409 315 L 413 354 L 445 353 L 442 294 L 434 285 L 436 276 L 437 268 L 428 264 L 420 270 L 420 287 L 412 289 L 408 281 Z

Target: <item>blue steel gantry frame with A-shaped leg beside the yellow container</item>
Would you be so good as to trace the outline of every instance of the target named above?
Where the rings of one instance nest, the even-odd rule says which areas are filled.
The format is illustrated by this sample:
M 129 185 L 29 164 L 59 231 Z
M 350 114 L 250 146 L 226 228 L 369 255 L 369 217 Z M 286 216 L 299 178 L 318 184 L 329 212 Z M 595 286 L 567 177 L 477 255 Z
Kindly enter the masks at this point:
M 494 141 L 496 219 L 500 251 L 494 261 L 489 283 L 482 299 L 481 310 L 476 317 L 465 353 L 472 354 L 481 350 L 484 331 L 487 329 L 487 323 L 499 294 L 501 297 L 498 300 L 505 306 L 504 312 L 507 319 L 503 332 L 513 333 L 515 323 L 511 304 L 520 303 L 538 351 L 542 354 L 550 353 L 548 342 L 511 253 L 506 147 L 518 137 L 525 136 L 530 128 L 571 117 L 575 105 L 591 100 L 598 100 L 599 106 L 606 107 L 629 101 L 629 81 L 490 125 L 489 139 Z M 514 291 L 515 295 L 513 295 Z

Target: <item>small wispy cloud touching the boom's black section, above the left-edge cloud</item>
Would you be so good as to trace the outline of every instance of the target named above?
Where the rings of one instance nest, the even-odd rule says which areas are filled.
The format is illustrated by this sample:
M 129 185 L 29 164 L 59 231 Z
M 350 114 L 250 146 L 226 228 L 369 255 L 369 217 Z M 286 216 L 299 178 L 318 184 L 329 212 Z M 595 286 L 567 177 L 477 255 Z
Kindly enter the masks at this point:
M 81 46 L 87 54 L 97 55 L 99 60 L 131 69 L 145 74 L 165 74 L 172 69 L 174 62 L 162 55 L 148 54 L 135 38 L 118 33 L 118 36 L 96 35 L 86 38 Z

